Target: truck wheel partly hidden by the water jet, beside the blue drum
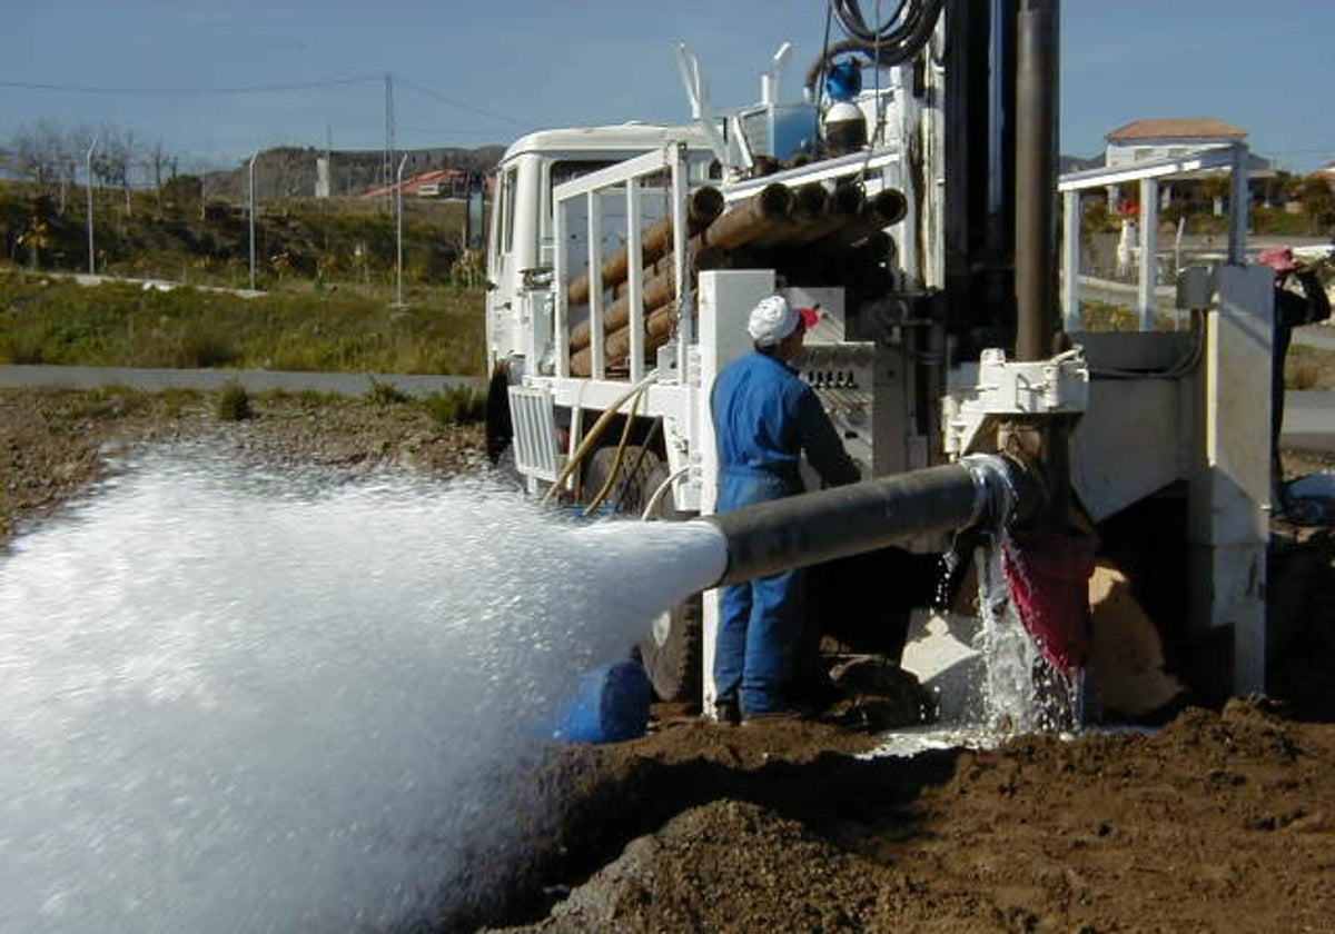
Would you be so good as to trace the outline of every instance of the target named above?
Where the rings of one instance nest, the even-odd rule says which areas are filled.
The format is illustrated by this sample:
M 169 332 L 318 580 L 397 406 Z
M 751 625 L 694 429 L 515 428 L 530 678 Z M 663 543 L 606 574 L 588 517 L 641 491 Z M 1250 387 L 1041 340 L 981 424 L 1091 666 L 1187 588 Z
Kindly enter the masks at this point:
M 611 447 L 599 448 L 590 456 L 583 472 L 586 499 L 591 499 L 602 488 L 614 460 L 615 450 Z M 668 464 L 653 450 L 633 444 L 622 454 L 618 474 L 621 479 L 607 494 L 606 503 L 638 516 L 643 514 L 654 491 L 668 479 Z M 653 518 L 674 520 L 690 516 L 673 507 L 672 496 L 665 496 L 654 507 Z M 659 700 L 700 700 L 702 620 L 704 604 L 697 594 L 662 612 L 637 643 L 639 660 Z

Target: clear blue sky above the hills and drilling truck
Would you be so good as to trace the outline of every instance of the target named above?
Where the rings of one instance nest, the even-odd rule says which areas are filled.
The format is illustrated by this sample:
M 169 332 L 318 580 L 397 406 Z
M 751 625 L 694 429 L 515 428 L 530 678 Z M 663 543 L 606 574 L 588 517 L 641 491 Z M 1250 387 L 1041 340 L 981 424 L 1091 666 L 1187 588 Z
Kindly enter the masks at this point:
M 326 139 L 376 149 L 386 73 L 402 148 L 676 121 L 678 41 L 736 105 L 784 41 L 796 95 L 824 28 L 822 0 L 21 3 L 0 37 L 0 141 L 47 119 L 129 131 L 183 168 Z M 1064 0 L 1061 32 L 1064 153 L 1131 120 L 1214 116 L 1292 171 L 1335 159 L 1335 0 Z

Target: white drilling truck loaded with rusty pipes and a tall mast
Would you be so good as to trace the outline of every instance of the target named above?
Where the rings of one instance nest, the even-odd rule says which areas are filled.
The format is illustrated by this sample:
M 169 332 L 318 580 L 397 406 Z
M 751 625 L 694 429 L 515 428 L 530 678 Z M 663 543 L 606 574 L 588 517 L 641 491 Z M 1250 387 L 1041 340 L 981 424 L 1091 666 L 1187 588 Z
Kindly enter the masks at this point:
M 876 28 L 857 7 L 832 0 L 844 39 L 821 49 L 800 100 L 778 100 L 788 45 L 760 101 L 733 109 L 712 107 L 680 47 L 692 123 L 551 129 L 507 149 L 487 252 L 493 456 L 513 459 L 531 492 L 590 512 L 712 512 L 709 390 L 749 350 L 749 308 L 780 290 L 821 307 L 796 366 L 864 478 L 1013 443 L 999 426 L 1056 426 L 1069 443 L 1056 476 L 1076 508 L 1128 570 L 1159 568 L 1152 610 L 1191 620 L 1165 634 L 1169 648 L 1185 658 L 1214 627 L 1236 636 L 1232 670 L 1203 672 L 1197 690 L 1255 688 L 1268 482 L 1252 447 L 1268 432 L 1255 402 L 1268 348 L 1240 335 L 1268 314 L 1268 284 L 1227 267 L 1184 280 L 1192 328 L 1147 318 L 1136 334 L 1084 332 L 1081 193 L 1160 175 L 1064 181 L 1075 246 L 1059 248 L 1056 75 L 1044 71 L 1055 0 L 905 0 Z M 1242 375 L 1220 379 L 1224 363 Z M 1218 431 L 1215 414 L 1239 406 L 1247 419 Z M 1168 524 L 1147 528 L 1149 516 Z M 1169 526 L 1175 574 L 1161 560 Z M 928 559 L 948 546 L 906 542 L 818 592 L 838 604 L 832 618 L 881 620 L 872 642 L 893 655 L 936 584 Z M 713 618 L 713 600 L 697 600 L 646 635 L 659 696 L 698 696 Z

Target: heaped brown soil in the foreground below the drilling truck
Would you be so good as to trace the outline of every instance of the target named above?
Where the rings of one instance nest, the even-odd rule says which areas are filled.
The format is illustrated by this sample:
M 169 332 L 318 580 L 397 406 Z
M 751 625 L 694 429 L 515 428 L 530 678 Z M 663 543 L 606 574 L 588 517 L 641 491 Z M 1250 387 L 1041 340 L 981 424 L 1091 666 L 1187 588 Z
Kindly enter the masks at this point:
M 913 759 L 852 747 L 776 725 L 573 751 L 587 779 L 561 825 L 571 887 L 549 877 L 550 914 L 513 930 L 1300 931 L 1335 917 L 1335 726 L 1234 702 L 1157 734 Z

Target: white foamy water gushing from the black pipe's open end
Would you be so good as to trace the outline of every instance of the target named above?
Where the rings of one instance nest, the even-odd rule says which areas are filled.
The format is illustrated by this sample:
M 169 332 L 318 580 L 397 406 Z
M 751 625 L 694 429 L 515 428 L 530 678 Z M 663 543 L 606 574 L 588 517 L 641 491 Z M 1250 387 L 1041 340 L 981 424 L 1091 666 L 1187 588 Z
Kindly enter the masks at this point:
M 481 480 L 151 456 L 0 556 L 0 931 L 411 919 L 579 672 L 722 560 Z

